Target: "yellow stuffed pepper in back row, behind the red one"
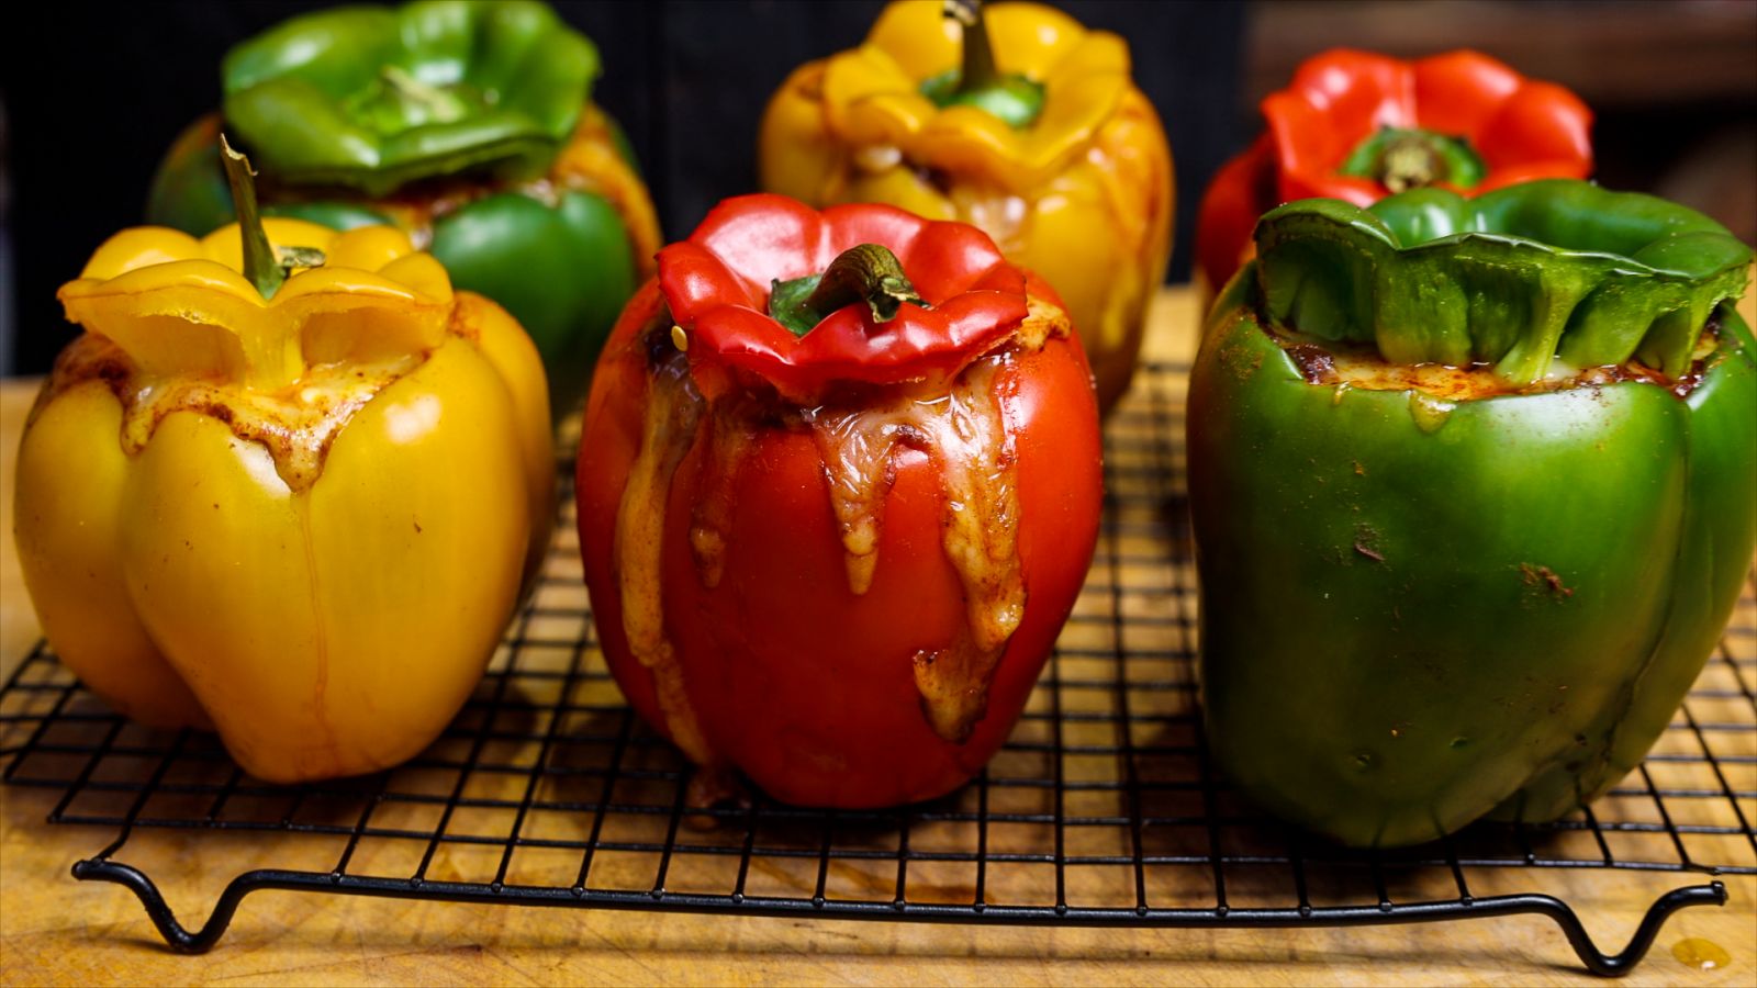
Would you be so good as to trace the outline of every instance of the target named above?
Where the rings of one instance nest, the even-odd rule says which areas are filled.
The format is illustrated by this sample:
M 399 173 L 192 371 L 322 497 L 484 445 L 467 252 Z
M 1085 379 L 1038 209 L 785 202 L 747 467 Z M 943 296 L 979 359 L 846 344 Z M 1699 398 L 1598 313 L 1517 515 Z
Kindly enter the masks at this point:
M 1040 88 L 1031 123 L 936 105 L 924 88 L 959 70 L 965 28 L 938 2 L 901 0 L 861 47 L 787 77 L 763 118 L 757 172 L 815 206 L 887 202 L 980 227 L 1066 299 L 1109 410 L 1170 257 L 1165 128 L 1117 35 L 1040 4 L 984 11 L 998 69 Z

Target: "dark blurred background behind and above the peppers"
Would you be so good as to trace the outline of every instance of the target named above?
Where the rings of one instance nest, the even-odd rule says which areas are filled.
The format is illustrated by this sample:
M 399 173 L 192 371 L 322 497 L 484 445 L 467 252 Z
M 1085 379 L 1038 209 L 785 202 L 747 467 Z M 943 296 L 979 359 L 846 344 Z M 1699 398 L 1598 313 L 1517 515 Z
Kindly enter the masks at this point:
M 54 288 L 139 223 L 165 146 L 218 104 L 225 49 L 316 0 L 16 5 L 0 21 L 0 373 L 42 373 L 72 336 Z M 1597 113 L 1599 178 L 1660 192 L 1757 237 L 1757 2 L 1059 0 L 1124 35 L 1177 165 L 1170 280 L 1214 169 L 1254 104 L 1334 46 L 1478 47 L 1574 88 Z M 757 120 L 787 72 L 856 46 L 880 0 L 560 2 L 597 42 L 594 98 L 641 158 L 668 237 L 756 186 Z

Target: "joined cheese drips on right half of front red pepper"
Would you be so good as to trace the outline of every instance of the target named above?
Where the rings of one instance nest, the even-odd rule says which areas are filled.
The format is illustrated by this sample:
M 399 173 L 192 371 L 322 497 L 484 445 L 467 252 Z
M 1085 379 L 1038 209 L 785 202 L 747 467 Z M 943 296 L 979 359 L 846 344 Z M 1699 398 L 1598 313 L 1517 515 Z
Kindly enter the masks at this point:
M 1024 617 L 1019 566 L 1017 452 L 1007 431 L 996 373 L 1005 353 L 973 364 L 933 401 L 806 413 L 842 524 L 849 589 L 871 585 L 880 510 L 894 482 L 893 450 L 903 443 L 929 455 L 945 494 L 942 548 L 965 587 L 966 622 L 945 649 L 914 656 L 915 689 L 933 731 L 965 742 L 987 712 L 987 687 L 1007 642 Z

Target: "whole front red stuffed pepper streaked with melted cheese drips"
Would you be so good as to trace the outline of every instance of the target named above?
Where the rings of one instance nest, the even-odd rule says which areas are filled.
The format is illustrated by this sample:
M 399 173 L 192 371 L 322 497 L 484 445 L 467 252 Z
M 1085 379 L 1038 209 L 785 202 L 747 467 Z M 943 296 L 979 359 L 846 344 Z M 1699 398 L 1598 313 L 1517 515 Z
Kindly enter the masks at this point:
M 768 315 L 773 281 L 871 243 L 926 308 L 833 304 L 805 336 Z M 576 489 L 610 670 L 699 779 L 905 803 L 980 770 L 1066 621 L 1098 413 L 1052 290 L 973 227 L 750 195 L 661 251 L 624 313 Z M 973 640 L 993 666 L 959 665 Z

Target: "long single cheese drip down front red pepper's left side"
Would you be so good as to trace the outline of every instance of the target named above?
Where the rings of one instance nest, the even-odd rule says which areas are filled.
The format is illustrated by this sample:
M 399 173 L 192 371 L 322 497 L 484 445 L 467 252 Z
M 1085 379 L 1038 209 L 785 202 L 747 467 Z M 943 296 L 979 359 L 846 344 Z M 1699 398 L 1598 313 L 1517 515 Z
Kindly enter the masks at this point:
M 629 652 L 652 672 L 654 693 L 671 740 L 698 765 L 713 761 L 701 723 L 683 689 L 676 647 L 664 631 L 664 517 L 671 476 L 696 441 L 703 401 L 689 378 L 689 360 L 675 350 L 648 381 L 641 452 L 617 506 L 617 589 Z

